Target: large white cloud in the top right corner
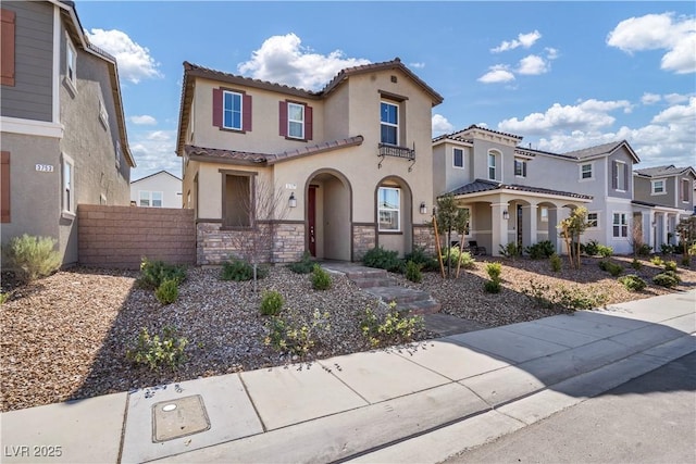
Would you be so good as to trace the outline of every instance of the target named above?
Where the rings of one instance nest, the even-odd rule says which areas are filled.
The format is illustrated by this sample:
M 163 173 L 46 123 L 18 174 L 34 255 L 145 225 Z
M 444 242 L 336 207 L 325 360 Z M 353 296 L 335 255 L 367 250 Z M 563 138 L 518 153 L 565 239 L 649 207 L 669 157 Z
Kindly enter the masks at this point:
M 696 17 L 674 13 L 646 14 L 622 21 L 607 36 L 607 45 L 626 53 L 666 50 L 660 63 L 676 74 L 696 73 Z

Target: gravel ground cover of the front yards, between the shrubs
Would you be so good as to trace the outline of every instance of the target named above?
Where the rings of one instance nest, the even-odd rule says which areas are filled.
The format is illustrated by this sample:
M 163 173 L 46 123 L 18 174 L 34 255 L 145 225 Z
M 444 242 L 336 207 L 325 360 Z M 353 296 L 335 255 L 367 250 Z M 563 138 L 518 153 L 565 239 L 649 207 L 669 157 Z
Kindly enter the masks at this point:
M 674 256 L 678 262 L 679 258 Z M 482 256 L 474 268 L 462 269 L 459 278 L 444 280 L 439 273 L 424 273 L 423 281 L 413 284 L 400 275 L 391 277 L 397 285 L 430 291 L 442 303 L 443 313 L 490 327 L 567 311 L 532 303 L 523 294 L 531 281 L 604 292 L 609 304 L 696 286 L 694 262 L 691 269 L 680 266 L 682 284 L 676 289 L 666 289 L 651 284 L 660 269 L 648 261 L 643 260 L 642 269 L 634 271 L 631 258 L 612 260 L 624 265 L 624 274 L 641 275 L 648 287 L 629 292 L 616 277 L 599 269 L 599 259 L 591 258 L 579 272 L 568 269 L 567 261 L 560 273 L 552 273 L 548 260 Z M 497 294 L 483 290 L 485 263 L 492 261 L 502 263 L 502 291 Z M 328 313 L 331 328 L 318 333 L 318 342 L 304 361 L 369 350 L 360 322 L 368 308 L 384 311 L 343 275 L 333 275 L 330 290 L 318 291 L 312 289 L 309 275 L 276 266 L 254 292 L 251 281 L 222 281 L 220 269 L 191 267 L 177 301 L 170 305 L 159 303 L 152 290 L 139 288 L 138 275 L 77 267 L 13 289 L 0 311 L 2 411 L 297 361 L 264 344 L 269 318 L 259 313 L 263 290 L 279 291 L 285 298 L 284 311 L 295 310 L 297 317 L 308 322 L 315 310 Z M 3 275 L 2 285 L 5 290 L 11 286 L 8 275 Z M 158 334 L 165 326 L 176 327 L 177 335 L 188 340 L 187 361 L 176 372 L 133 365 L 125 352 L 140 329 Z M 435 336 L 421 331 L 417 341 Z

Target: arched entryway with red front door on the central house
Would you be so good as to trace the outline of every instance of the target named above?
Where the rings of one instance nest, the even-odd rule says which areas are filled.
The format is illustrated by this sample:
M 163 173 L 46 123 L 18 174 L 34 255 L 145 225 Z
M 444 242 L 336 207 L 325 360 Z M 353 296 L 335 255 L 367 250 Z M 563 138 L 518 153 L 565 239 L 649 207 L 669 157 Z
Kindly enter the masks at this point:
M 350 183 L 335 170 L 320 170 L 309 177 L 304 191 L 307 250 L 320 260 L 350 261 Z

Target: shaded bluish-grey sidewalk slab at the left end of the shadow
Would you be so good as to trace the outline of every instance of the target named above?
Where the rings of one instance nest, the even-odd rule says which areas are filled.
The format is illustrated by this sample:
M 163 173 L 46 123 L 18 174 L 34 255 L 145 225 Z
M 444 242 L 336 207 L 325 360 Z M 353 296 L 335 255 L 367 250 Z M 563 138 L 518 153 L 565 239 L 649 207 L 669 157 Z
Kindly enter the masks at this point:
M 514 363 L 568 350 L 568 347 L 562 344 L 551 343 L 550 341 L 539 340 L 538 338 L 527 337 L 501 328 L 455 335 L 446 337 L 446 340 L 451 340 Z

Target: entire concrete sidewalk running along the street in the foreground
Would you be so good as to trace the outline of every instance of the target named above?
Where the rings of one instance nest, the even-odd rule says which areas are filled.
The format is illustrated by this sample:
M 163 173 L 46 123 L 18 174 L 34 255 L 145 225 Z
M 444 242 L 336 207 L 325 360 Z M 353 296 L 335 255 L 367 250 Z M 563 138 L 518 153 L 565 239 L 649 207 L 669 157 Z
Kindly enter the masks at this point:
M 437 462 L 696 351 L 695 310 L 692 290 L 13 411 L 2 462 Z

